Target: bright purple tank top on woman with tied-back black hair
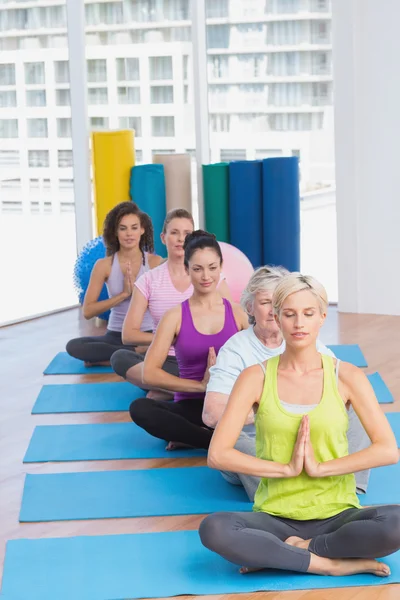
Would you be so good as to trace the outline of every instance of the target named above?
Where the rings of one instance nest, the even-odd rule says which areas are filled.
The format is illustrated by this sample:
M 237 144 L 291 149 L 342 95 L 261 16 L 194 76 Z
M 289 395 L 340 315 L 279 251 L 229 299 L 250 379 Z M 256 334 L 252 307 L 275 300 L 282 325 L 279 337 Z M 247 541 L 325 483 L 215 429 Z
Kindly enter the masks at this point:
M 194 326 L 189 300 L 182 302 L 181 329 L 176 338 L 174 348 L 179 366 L 179 376 L 182 379 L 201 381 L 207 368 L 208 350 L 213 347 L 216 354 L 230 337 L 237 333 L 238 328 L 231 303 L 223 298 L 225 306 L 224 326 L 218 333 L 206 335 L 200 333 Z M 204 398 L 205 394 L 177 392 L 174 401 L 190 398 Z

